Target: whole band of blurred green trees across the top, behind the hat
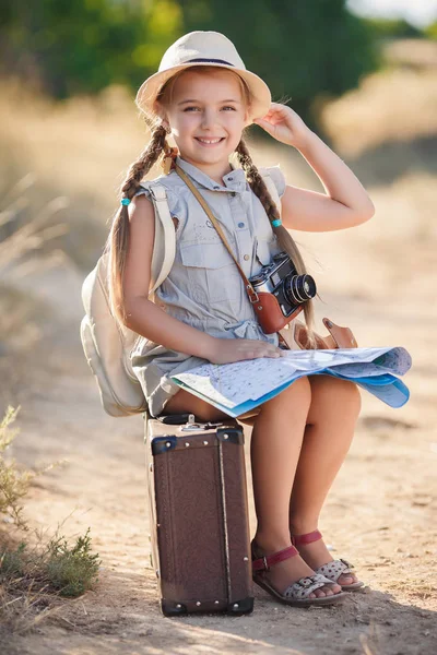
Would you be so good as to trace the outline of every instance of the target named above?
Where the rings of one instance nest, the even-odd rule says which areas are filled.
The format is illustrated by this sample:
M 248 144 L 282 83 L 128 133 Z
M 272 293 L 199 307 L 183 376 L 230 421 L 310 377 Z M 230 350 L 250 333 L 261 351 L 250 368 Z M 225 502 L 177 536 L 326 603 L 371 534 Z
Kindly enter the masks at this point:
M 223 32 L 276 100 L 312 122 L 320 98 L 355 86 L 377 66 L 368 22 L 345 0 L 3 0 L 3 72 L 55 97 L 113 82 L 133 90 L 185 32 Z

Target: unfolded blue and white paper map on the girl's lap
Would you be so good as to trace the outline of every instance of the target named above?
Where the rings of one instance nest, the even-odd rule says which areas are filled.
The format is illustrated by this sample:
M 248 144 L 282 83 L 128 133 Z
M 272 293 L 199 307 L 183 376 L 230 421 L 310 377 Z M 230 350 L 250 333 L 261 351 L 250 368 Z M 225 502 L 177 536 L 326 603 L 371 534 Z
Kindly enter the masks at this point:
M 402 347 L 287 350 L 279 358 L 203 364 L 172 380 L 237 417 L 274 397 L 298 378 L 320 374 L 352 380 L 391 407 L 401 407 L 410 392 L 395 376 L 403 376 L 410 368 L 411 356 Z

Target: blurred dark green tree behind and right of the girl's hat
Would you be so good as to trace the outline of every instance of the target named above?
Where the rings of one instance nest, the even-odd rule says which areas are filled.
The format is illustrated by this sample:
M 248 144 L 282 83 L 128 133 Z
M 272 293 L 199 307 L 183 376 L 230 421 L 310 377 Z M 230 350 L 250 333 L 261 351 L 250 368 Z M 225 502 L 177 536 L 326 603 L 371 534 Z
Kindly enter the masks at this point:
M 216 29 L 246 66 L 314 126 L 320 99 L 357 85 L 378 66 L 373 31 L 345 0 L 181 0 L 185 28 Z

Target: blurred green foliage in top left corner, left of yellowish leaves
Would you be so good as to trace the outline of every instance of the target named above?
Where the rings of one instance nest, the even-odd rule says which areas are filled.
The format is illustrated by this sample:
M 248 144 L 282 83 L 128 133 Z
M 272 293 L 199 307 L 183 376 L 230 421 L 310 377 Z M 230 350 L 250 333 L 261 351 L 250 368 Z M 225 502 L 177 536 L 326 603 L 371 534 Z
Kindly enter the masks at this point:
M 126 80 L 141 12 L 106 0 L 5 0 L 2 62 L 62 98 Z

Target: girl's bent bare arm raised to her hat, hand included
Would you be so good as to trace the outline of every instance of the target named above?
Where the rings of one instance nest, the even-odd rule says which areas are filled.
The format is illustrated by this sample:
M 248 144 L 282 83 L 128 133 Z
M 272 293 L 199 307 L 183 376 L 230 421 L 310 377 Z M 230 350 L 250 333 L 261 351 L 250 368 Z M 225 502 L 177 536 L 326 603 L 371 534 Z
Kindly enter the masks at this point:
M 326 190 L 326 193 L 318 193 L 287 186 L 281 199 L 284 227 L 331 231 L 371 218 L 375 207 L 359 180 L 293 109 L 272 103 L 264 118 L 253 122 L 277 141 L 296 147 Z

